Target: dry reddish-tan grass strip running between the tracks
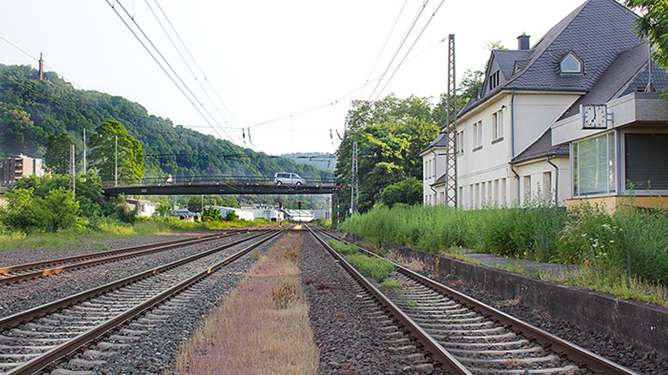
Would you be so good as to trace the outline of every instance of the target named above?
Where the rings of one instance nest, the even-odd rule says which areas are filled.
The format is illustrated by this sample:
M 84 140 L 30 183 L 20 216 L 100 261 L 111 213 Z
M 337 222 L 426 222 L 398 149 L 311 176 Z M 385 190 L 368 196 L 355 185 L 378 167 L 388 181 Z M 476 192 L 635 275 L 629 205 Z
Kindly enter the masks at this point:
M 180 348 L 177 374 L 317 374 L 319 352 L 299 269 L 286 258 L 288 249 L 301 248 L 301 236 L 286 233 L 259 259 Z M 277 308 L 272 291 L 281 289 L 290 298 Z

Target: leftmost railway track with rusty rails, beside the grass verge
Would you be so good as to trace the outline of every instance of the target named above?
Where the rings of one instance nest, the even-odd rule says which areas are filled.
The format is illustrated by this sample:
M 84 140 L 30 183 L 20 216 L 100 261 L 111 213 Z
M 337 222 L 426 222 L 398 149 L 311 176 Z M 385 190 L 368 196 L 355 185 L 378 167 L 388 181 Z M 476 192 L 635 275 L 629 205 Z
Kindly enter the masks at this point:
M 145 256 L 152 253 L 159 253 L 160 251 L 174 249 L 176 247 L 189 246 L 202 242 L 210 242 L 229 237 L 231 235 L 248 232 L 250 232 L 248 229 L 224 231 L 210 235 L 198 235 L 192 238 L 143 244 L 140 246 L 125 247 L 123 249 L 109 251 L 98 251 L 80 256 L 71 256 L 66 258 L 49 259 L 41 262 L 26 263 L 24 265 L 0 267 L 0 285 L 7 285 L 14 282 L 20 282 L 34 278 L 53 276 L 66 271 L 71 271 L 73 269 L 93 267 L 108 262 L 115 262 L 137 256 Z

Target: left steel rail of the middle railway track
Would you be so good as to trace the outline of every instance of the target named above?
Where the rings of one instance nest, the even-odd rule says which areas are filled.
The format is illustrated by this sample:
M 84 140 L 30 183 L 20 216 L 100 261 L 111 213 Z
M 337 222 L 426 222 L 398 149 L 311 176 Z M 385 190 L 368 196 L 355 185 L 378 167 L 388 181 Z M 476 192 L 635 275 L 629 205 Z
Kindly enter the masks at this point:
M 6 329 L 10 329 L 13 327 L 16 327 L 17 325 L 27 322 L 29 320 L 32 320 L 34 318 L 44 316 L 46 314 L 49 314 L 53 311 L 57 311 L 58 309 L 62 309 L 64 307 L 68 307 L 71 305 L 74 305 L 77 302 L 81 302 L 83 300 L 98 296 L 100 294 L 103 294 L 107 291 L 111 291 L 113 289 L 118 289 L 120 287 L 124 287 L 125 285 L 131 284 L 132 282 L 136 282 L 138 280 L 142 280 L 144 278 L 147 278 L 151 275 L 157 274 L 161 271 L 165 271 L 167 269 L 171 269 L 174 267 L 178 267 L 180 265 L 183 265 L 187 262 L 192 262 L 193 260 L 197 260 L 199 258 L 203 258 L 205 256 L 208 256 L 212 253 L 216 253 L 218 251 L 228 249 L 230 247 L 236 246 L 238 244 L 241 244 L 246 241 L 254 240 L 255 238 L 260 237 L 264 233 L 260 233 L 257 235 L 252 235 L 247 238 L 241 238 L 241 240 L 236 240 L 234 242 L 230 242 L 229 244 L 224 244 L 221 247 L 216 247 L 215 249 L 207 250 L 202 253 L 197 253 L 192 256 L 189 256 L 187 258 L 183 258 L 180 260 L 176 260 L 174 262 L 170 262 L 167 265 L 162 265 L 160 267 L 156 267 L 153 269 L 149 269 L 147 271 L 142 271 L 140 273 L 136 273 L 132 276 L 128 276 L 127 278 L 122 278 L 120 280 L 116 280 L 113 282 L 109 282 L 108 284 L 101 285 L 100 287 L 95 287 L 93 289 L 89 289 L 87 291 L 82 291 L 77 294 L 73 294 L 72 296 L 68 296 L 65 298 L 62 298 L 60 300 L 55 300 L 53 302 L 49 302 L 45 305 L 41 305 L 38 307 L 33 307 L 33 309 L 28 309 L 26 311 L 21 311 L 17 314 L 7 316 L 5 318 L 0 319 L 0 331 L 4 331 Z

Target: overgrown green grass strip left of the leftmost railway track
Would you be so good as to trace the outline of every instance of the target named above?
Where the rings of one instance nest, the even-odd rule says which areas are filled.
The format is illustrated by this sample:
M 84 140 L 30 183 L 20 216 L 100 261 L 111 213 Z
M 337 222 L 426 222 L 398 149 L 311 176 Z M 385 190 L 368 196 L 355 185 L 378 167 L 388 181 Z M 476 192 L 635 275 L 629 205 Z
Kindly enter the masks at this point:
M 183 222 L 178 218 L 169 217 L 142 218 L 135 224 L 125 224 L 109 218 L 101 218 L 91 227 L 68 229 L 55 233 L 30 233 L 26 235 L 21 232 L 6 231 L 5 233 L 0 233 L 0 250 L 71 249 L 74 245 L 81 242 L 265 224 L 271 223 L 266 220 L 255 220 L 253 222 Z M 101 249 L 103 245 L 95 244 L 94 247 Z

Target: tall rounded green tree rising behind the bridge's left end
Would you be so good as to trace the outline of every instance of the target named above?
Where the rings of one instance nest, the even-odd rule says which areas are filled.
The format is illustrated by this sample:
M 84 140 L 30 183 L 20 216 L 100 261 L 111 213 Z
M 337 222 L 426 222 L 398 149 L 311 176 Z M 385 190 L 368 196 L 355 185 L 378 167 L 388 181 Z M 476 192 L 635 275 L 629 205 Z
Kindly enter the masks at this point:
M 142 144 L 131 136 L 118 121 L 106 120 L 91 135 L 91 166 L 98 169 L 102 180 L 113 181 L 115 168 L 115 144 L 118 140 L 118 178 L 137 182 L 146 171 Z

